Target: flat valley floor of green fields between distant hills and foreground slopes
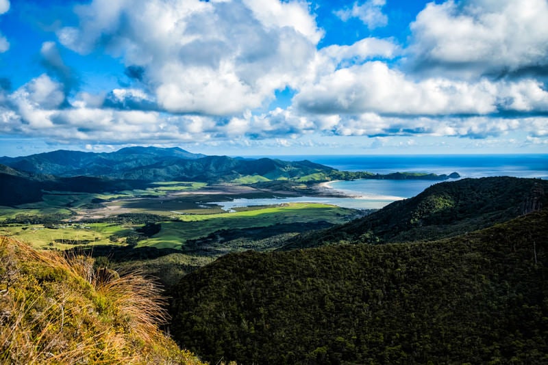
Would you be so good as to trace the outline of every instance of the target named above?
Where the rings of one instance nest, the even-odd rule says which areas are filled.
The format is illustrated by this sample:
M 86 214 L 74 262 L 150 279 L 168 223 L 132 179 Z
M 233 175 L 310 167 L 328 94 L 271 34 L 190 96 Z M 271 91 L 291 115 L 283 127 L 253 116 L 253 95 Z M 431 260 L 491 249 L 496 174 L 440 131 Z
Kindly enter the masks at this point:
M 256 176 L 245 176 L 240 183 L 255 180 Z M 39 249 L 101 245 L 102 248 L 95 248 L 97 256 L 103 256 L 105 247 L 127 244 L 126 248 L 119 249 L 142 252 L 134 251 L 133 245 L 139 250 L 141 247 L 152 249 L 146 252 L 177 249 L 177 252 L 158 252 L 154 257 L 145 255 L 142 259 L 122 257 L 118 260 L 120 257 L 116 256 L 117 265 L 139 267 L 157 275 L 164 283 L 173 283 L 228 252 L 273 249 L 280 237 L 311 229 L 307 224 L 340 224 L 356 216 L 352 209 L 327 204 L 248 206 L 235 208 L 233 213 L 212 204 L 232 198 L 272 196 L 271 191 L 238 184 L 210 187 L 205 183 L 178 181 L 154 183 L 149 189 L 118 193 L 48 191 L 41 202 L 0 206 L 0 236 L 27 242 Z M 135 217 L 120 219 L 128 213 Z M 160 232 L 147 237 L 145 232 L 138 230 L 149 219 L 160 224 Z M 217 238 L 219 232 L 223 232 L 222 239 Z M 119 256 L 125 257 L 124 252 Z

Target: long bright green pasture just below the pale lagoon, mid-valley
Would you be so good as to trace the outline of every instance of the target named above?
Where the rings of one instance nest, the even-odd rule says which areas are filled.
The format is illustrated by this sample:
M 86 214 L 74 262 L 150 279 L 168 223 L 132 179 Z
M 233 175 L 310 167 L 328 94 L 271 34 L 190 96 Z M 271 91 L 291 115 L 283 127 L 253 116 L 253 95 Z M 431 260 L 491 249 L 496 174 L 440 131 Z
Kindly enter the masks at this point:
M 177 248 L 189 239 L 198 239 L 222 229 L 314 221 L 340 224 L 347 221 L 353 213 L 352 209 L 327 204 L 290 203 L 235 213 L 180 215 L 180 221 L 162 222 L 162 230 L 150 239 L 140 241 L 139 245 Z

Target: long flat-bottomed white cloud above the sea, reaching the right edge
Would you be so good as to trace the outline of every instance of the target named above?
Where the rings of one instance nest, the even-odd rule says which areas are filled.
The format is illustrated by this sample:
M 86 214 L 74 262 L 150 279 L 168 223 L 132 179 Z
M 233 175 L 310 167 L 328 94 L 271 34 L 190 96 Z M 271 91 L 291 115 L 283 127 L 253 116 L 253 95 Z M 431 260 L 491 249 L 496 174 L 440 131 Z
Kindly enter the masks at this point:
M 340 68 L 303 86 L 295 105 L 307 113 L 380 113 L 405 116 L 487 115 L 548 111 L 548 92 L 534 79 L 414 81 L 383 62 Z

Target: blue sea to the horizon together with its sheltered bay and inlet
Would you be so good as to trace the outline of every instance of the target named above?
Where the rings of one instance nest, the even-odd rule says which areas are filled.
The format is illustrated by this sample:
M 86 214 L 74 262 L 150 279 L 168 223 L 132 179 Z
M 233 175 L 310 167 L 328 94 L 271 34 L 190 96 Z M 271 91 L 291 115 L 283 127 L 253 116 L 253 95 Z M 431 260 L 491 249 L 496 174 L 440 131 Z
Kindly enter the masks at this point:
M 272 158 L 272 156 L 269 156 Z M 451 174 L 462 178 L 515 176 L 548 179 L 548 154 L 495 155 L 407 155 L 407 156 L 279 156 L 284 161 L 308 160 L 345 171 L 425 172 Z M 234 200 L 219 202 L 226 210 L 235 206 L 280 204 L 283 202 L 321 202 L 346 208 L 382 208 L 390 202 L 411 198 L 437 181 L 428 180 L 353 180 L 336 181 L 329 186 L 354 198 L 286 198 Z

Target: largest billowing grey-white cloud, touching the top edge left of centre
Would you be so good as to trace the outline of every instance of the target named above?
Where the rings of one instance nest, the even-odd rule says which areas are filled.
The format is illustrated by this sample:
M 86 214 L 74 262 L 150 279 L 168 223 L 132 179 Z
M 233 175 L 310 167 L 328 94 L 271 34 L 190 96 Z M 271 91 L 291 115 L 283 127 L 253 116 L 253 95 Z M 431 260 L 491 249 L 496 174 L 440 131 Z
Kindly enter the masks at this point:
M 60 42 L 122 57 L 173 113 L 262 106 L 299 83 L 323 36 L 303 1 L 95 0 L 77 13 L 79 27 L 60 29 Z

